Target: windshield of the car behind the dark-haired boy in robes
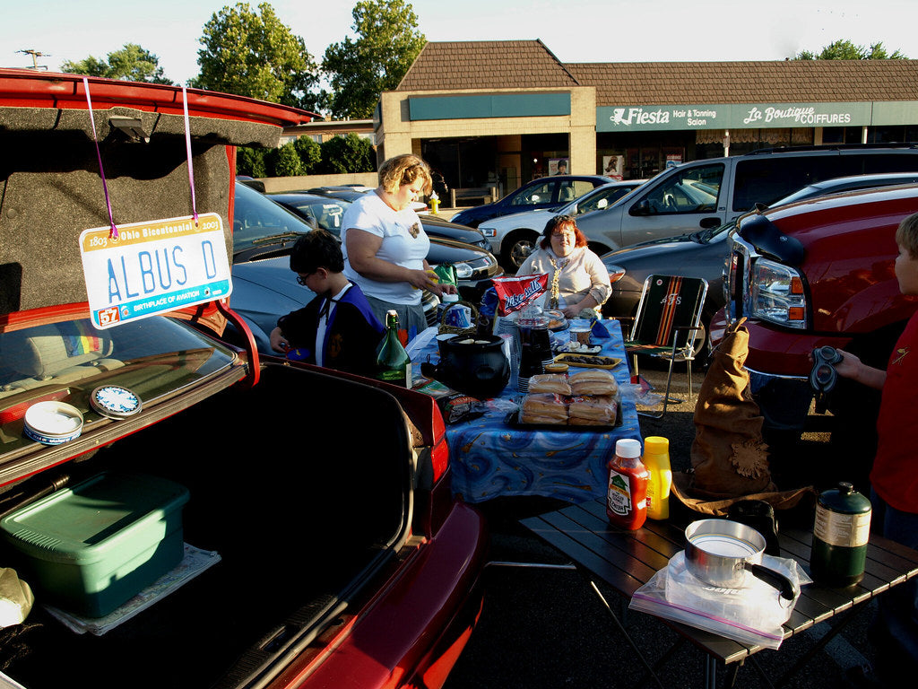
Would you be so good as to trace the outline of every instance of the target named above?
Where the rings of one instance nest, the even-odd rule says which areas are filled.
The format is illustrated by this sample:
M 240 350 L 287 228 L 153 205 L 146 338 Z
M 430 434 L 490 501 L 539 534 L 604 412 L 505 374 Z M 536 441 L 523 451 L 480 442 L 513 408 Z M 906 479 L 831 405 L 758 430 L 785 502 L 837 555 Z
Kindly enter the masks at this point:
M 297 239 L 312 230 L 305 220 L 254 189 L 237 184 L 232 219 L 233 252 Z

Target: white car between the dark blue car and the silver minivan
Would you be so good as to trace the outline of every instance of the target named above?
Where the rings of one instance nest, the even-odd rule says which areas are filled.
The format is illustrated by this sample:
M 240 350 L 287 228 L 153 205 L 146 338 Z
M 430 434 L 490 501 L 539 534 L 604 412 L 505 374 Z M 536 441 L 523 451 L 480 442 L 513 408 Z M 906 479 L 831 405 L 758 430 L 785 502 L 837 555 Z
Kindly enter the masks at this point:
M 491 253 L 498 255 L 500 264 L 510 273 L 526 260 L 532 247 L 545 229 L 545 223 L 555 215 L 580 215 L 591 210 L 608 208 L 620 198 L 630 194 L 645 179 L 626 179 L 597 186 L 582 197 L 575 198 L 564 206 L 553 209 L 526 210 L 491 220 L 478 225 L 478 229 L 491 243 Z

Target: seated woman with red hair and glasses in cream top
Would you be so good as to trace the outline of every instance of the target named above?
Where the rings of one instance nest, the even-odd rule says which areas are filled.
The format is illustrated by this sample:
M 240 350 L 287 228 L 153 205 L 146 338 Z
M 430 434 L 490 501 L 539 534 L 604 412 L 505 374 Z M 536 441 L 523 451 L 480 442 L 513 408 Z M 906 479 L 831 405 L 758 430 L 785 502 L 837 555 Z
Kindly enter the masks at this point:
M 571 215 L 548 220 L 539 248 L 517 271 L 518 276 L 543 273 L 549 285 L 546 308 L 560 309 L 566 318 L 578 318 L 583 311 L 595 315 L 612 292 L 609 271 L 588 249 L 587 238 Z

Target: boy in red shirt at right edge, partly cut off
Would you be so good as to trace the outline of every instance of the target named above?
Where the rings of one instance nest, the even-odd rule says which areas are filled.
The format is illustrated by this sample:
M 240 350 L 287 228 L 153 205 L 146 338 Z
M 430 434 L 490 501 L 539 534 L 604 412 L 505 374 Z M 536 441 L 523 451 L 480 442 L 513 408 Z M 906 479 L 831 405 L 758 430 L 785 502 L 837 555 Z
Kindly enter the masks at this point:
M 899 289 L 902 294 L 918 295 L 918 213 L 901 221 L 896 243 Z M 884 537 L 918 549 L 918 312 L 912 315 L 893 347 L 885 371 L 867 366 L 849 352 L 839 353 L 843 356 L 835 366 L 839 376 L 882 390 L 877 455 L 870 471 L 872 519 L 881 525 Z M 896 608 L 881 605 L 881 613 L 892 638 L 901 641 L 914 662 L 918 661 L 918 597 L 914 580 L 902 588 L 908 590 L 909 600 Z M 890 594 L 898 590 L 899 587 Z

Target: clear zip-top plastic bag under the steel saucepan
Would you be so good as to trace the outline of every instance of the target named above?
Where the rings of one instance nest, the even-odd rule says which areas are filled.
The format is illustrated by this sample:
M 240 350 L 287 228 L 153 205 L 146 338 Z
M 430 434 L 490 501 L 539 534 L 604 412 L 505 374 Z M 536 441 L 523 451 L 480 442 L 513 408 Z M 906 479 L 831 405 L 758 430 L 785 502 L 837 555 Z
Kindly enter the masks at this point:
M 733 589 L 701 582 L 686 569 L 685 552 L 680 551 L 634 592 L 628 607 L 740 643 L 778 649 L 784 637 L 782 625 L 797 604 L 800 586 L 812 580 L 794 559 L 763 555 L 762 565 L 780 571 L 794 584 L 792 601 L 753 576 Z

